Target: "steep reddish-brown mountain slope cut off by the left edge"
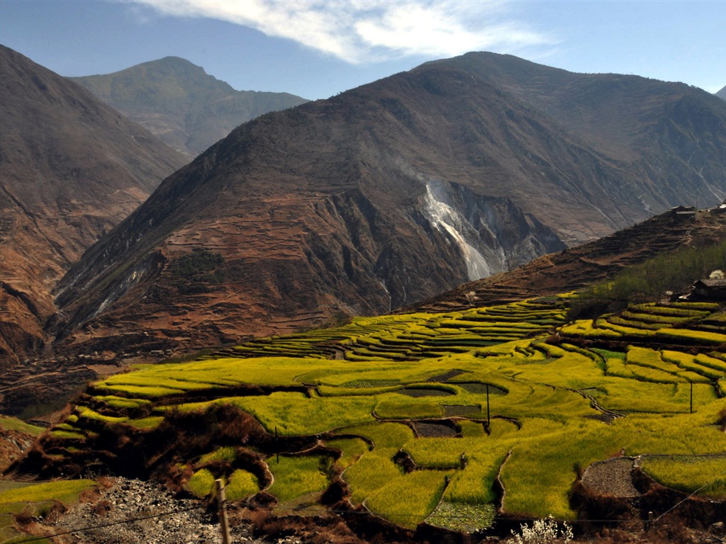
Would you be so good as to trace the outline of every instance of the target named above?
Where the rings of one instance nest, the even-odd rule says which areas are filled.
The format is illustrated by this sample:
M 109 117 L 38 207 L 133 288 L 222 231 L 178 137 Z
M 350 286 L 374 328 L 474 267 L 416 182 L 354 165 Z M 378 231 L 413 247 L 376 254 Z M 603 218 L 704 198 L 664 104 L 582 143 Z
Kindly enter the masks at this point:
M 0 362 L 41 350 L 52 289 L 184 157 L 0 46 Z

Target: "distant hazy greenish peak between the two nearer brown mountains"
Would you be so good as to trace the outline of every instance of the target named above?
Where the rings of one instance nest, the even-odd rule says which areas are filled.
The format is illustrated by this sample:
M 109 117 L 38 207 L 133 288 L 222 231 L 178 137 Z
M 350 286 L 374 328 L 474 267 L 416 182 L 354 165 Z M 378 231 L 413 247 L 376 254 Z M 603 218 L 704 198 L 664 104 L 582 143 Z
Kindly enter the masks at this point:
M 179 57 L 70 79 L 190 159 L 245 121 L 307 102 L 287 93 L 235 91 Z

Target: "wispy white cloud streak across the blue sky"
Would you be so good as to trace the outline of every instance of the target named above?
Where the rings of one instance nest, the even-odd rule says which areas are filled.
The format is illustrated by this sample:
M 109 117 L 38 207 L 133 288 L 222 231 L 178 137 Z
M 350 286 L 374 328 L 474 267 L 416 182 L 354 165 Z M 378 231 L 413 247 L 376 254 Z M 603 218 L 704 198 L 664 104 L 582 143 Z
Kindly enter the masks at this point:
M 354 64 L 478 50 L 517 52 L 554 43 L 511 15 L 507 1 L 132 1 L 164 15 L 233 22 Z

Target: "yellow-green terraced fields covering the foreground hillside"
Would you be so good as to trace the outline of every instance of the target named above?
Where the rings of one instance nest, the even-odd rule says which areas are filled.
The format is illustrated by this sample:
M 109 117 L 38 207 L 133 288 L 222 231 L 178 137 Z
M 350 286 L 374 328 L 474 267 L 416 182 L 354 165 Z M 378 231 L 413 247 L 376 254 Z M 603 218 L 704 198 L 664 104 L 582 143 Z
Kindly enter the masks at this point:
M 165 450 L 174 477 L 200 496 L 217 477 L 234 499 L 264 490 L 281 511 L 317 511 L 338 490 L 403 527 L 574 519 L 579 475 L 613 457 L 723 498 L 719 306 L 640 304 L 566 323 L 569 300 L 359 318 L 142 366 L 94 384 L 44 439 L 45 462 L 82 465 L 114 429 L 126 442 L 168 440 L 193 416 L 224 429 L 173 458 Z M 233 437 L 234 421 L 214 415 L 230 406 L 259 429 Z

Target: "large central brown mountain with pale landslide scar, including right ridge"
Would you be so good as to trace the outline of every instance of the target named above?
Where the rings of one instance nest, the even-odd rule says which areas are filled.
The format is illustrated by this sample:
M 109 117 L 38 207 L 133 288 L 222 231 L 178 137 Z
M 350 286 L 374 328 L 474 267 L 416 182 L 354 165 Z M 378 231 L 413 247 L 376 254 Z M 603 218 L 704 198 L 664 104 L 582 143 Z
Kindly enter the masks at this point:
M 245 123 L 60 285 L 59 346 L 200 347 L 382 313 L 726 194 L 726 104 L 473 53 Z

